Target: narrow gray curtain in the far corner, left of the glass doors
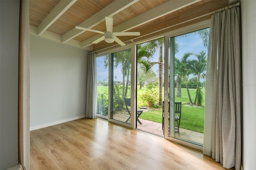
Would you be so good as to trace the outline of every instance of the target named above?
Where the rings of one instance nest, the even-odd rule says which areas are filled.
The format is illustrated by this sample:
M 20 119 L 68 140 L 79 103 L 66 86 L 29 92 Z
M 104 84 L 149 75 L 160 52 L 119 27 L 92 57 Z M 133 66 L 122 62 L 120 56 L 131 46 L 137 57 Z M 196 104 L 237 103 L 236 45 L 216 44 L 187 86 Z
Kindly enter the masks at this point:
M 95 53 L 88 55 L 88 74 L 86 90 L 86 118 L 96 118 L 97 111 L 97 82 L 96 82 L 96 56 Z

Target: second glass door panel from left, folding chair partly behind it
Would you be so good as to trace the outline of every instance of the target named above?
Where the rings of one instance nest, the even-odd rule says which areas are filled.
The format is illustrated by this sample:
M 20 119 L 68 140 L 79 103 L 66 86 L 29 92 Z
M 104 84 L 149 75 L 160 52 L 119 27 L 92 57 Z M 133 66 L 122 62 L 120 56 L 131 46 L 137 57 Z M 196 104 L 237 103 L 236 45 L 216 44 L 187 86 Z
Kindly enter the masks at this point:
M 126 108 L 124 98 L 130 99 L 131 49 L 111 53 L 110 119 L 131 123 L 130 106 Z

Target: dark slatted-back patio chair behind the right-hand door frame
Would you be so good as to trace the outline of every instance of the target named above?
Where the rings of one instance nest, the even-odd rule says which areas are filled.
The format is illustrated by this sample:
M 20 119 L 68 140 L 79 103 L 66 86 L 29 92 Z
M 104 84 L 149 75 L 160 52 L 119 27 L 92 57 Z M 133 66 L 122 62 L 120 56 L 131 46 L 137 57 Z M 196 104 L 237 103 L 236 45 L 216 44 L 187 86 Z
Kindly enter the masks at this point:
M 168 102 L 168 120 L 170 120 L 170 103 Z M 163 101 L 163 109 L 162 109 L 162 130 L 164 130 L 164 101 Z M 174 131 L 180 134 L 180 118 L 181 118 L 181 102 L 174 103 L 174 123 L 176 122 L 176 126 L 174 126 Z

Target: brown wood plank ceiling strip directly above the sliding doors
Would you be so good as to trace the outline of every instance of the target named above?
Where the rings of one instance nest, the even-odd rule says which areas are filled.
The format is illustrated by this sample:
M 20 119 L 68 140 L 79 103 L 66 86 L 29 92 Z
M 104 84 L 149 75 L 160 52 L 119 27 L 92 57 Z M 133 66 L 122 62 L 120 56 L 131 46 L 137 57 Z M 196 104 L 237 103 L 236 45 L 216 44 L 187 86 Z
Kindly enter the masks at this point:
M 143 42 L 144 40 L 148 40 L 152 37 L 156 38 L 158 36 L 163 36 L 170 31 L 201 23 L 206 20 L 208 21 L 215 10 L 225 6 L 228 6 L 228 1 L 208 1 L 204 4 L 193 6 L 188 10 L 180 10 L 178 13 L 168 14 L 154 22 L 149 22 L 148 24 L 144 24 L 130 30 L 140 32 L 140 37 L 132 38 L 132 40 L 134 43 Z M 126 43 L 126 45 L 131 43 L 131 39 L 127 37 L 122 37 L 120 40 Z M 115 47 L 118 47 L 118 44 L 107 44 L 105 42 L 98 43 L 93 45 L 93 51 L 101 52 Z

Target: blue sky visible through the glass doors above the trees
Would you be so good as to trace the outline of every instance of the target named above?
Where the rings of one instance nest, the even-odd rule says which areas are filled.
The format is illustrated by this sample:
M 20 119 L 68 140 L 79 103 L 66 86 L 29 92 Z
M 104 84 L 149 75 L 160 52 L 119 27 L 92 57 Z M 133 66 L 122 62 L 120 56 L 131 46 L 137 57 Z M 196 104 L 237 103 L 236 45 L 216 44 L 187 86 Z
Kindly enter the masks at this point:
M 207 49 L 204 47 L 202 40 L 198 36 L 198 34 L 192 34 L 187 37 L 176 37 L 176 43 L 179 44 L 180 50 L 176 53 L 177 58 L 181 58 L 184 53 L 199 53 L 200 51 L 205 51 L 207 53 Z M 164 49 L 163 49 L 164 52 Z M 152 61 L 158 61 L 159 50 L 156 50 L 156 53 L 153 56 Z M 196 57 L 191 56 L 190 59 L 196 59 Z M 104 69 L 103 60 L 99 57 L 97 58 L 97 81 L 103 81 L 108 77 L 108 69 Z M 154 65 L 152 69 L 156 72 L 158 69 L 158 65 Z M 116 69 L 114 71 L 114 76 L 117 76 L 115 80 L 122 81 L 122 73 L 120 69 Z

